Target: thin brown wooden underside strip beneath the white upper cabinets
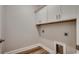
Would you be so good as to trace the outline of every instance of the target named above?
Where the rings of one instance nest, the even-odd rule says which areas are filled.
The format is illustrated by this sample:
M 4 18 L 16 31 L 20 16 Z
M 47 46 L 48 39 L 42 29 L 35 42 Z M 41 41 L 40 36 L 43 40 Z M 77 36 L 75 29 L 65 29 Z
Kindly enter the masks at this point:
M 72 22 L 72 21 L 76 21 L 76 18 L 74 18 L 74 19 L 67 19 L 67 20 L 44 21 L 44 22 L 41 22 L 41 23 L 37 23 L 36 25 L 37 26 L 40 26 L 40 25 L 47 25 L 47 24 L 55 24 L 55 23 L 63 23 L 63 22 Z

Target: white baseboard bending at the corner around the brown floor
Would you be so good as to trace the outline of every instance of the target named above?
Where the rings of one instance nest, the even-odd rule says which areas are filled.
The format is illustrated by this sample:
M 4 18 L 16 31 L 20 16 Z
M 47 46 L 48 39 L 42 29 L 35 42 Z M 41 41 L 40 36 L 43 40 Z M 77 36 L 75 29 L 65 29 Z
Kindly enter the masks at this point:
M 16 49 L 16 50 L 13 50 L 13 51 L 10 51 L 10 52 L 5 52 L 4 54 L 16 54 L 16 53 L 19 53 L 19 52 L 22 52 L 22 51 L 25 51 L 25 50 L 29 50 L 29 49 L 31 49 L 31 48 L 38 47 L 38 46 L 41 46 L 42 48 L 44 48 L 45 50 L 47 50 L 50 54 L 54 54 L 54 53 L 55 53 L 55 52 L 54 52 L 53 50 L 51 50 L 50 48 L 44 46 L 44 45 L 41 44 L 41 43 L 38 43 L 38 44 L 31 45 L 31 46 L 28 46 L 28 47 Z

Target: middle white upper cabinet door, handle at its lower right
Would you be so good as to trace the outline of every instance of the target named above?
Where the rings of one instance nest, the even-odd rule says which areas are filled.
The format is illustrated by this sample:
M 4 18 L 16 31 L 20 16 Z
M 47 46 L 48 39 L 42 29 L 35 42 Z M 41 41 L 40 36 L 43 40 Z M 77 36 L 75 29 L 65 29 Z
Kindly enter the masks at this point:
M 60 6 L 58 5 L 49 5 L 48 6 L 48 20 L 56 21 L 59 19 L 60 15 Z

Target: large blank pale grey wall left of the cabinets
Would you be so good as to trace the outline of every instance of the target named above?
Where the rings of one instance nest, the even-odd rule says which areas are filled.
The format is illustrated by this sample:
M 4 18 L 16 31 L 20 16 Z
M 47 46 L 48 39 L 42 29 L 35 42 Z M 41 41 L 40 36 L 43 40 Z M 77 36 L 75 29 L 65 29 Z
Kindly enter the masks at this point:
M 32 6 L 6 6 L 4 15 L 6 52 L 39 42 Z

